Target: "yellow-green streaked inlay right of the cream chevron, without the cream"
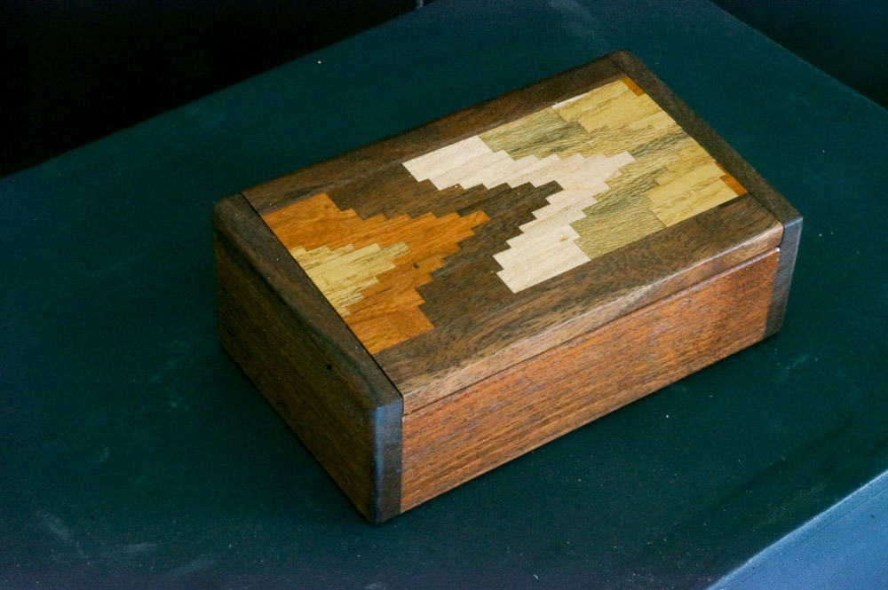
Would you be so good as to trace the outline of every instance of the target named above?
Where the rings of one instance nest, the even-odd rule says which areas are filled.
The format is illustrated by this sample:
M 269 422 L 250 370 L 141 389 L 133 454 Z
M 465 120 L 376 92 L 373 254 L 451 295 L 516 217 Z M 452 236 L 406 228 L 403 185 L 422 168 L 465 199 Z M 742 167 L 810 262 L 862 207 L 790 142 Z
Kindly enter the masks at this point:
M 573 224 L 590 258 L 746 193 L 669 114 L 628 78 L 553 106 L 577 122 L 602 153 L 635 159 Z

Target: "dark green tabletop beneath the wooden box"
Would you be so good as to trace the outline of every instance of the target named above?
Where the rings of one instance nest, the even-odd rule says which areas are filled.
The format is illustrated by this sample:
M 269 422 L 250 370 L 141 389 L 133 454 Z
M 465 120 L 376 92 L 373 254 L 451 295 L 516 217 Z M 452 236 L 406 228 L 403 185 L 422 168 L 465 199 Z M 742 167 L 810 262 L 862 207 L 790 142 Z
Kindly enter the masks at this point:
M 221 350 L 210 208 L 622 48 L 805 215 L 781 333 L 370 526 Z M 5 177 L 0 587 L 710 586 L 888 469 L 886 138 L 702 0 L 440 0 Z

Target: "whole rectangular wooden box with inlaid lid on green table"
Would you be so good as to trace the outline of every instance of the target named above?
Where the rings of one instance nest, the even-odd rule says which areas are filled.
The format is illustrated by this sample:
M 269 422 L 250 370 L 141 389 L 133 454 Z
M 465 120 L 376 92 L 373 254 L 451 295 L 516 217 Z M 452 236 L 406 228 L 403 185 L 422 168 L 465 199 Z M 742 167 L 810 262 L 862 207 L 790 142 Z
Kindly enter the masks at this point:
M 214 229 L 222 342 L 381 522 L 773 334 L 801 217 L 618 52 Z

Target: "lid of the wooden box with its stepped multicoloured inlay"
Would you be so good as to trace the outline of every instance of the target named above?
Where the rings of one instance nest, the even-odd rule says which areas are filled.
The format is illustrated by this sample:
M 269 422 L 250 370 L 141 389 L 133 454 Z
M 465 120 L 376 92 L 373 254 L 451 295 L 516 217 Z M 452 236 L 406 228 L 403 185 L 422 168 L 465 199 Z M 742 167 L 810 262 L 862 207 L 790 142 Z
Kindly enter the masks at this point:
M 245 193 L 405 412 L 779 245 L 643 75 L 581 69 Z

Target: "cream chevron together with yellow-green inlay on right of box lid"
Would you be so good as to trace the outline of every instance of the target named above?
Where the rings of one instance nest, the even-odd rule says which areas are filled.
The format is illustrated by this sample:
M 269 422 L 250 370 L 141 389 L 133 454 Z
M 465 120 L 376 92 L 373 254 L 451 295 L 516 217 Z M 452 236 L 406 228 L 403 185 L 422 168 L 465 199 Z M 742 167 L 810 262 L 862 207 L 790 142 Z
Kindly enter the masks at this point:
M 497 275 L 513 292 L 745 193 L 629 78 L 424 153 L 404 167 L 439 189 L 561 187 L 495 255 L 503 266 Z

